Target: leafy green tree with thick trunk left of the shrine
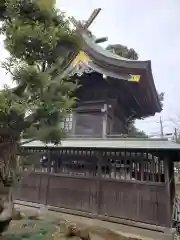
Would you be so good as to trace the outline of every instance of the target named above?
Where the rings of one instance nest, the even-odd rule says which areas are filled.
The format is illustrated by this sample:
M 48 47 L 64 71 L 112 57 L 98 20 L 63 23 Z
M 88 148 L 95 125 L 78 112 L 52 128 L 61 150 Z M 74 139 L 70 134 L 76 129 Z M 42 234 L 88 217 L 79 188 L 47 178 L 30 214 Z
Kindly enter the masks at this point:
M 61 73 L 81 39 L 53 0 L 1 1 L 0 19 L 9 52 L 3 67 L 16 84 L 0 91 L 0 178 L 11 186 L 21 139 L 57 144 L 64 136 L 60 122 L 75 102 L 77 83 Z

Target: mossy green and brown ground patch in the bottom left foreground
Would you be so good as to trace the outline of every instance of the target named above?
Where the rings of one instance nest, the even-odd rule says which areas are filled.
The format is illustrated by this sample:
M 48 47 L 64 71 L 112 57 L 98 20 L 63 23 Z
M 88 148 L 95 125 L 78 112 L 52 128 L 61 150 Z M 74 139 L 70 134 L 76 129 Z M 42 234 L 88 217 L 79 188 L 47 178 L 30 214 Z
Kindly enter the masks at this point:
M 54 216 L 45 209 L 19 208 L 23 219 L 12 221 L 11 226 L 6 231 L 6 240 L 82 240 L 81 237 L 67 237 L 67 226 L 71 223 L 61 218 L 59 214 Z M 74 223 L 73 223 L 74 224 Z M 125 236 L 120 236 L 110 230 L 99 227 L 87 227 L 83 224 L 76 224 L 78 229 L 85 233 L 90 233 L 91 240 L 127 240 Z

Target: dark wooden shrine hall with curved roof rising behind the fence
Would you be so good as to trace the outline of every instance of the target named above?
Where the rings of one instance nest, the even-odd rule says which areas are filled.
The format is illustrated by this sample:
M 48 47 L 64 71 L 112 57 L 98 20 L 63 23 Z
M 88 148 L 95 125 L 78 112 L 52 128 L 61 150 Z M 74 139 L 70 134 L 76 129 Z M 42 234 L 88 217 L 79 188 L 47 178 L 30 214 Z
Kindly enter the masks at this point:
M 62 123 L 68 135 L 127 134 L 133 120 L 160 112 L 151 61 L 124 59 L 107 51 L 80 23 L 74 24 L 84 45 L 61 74 L 78 79 L 81 86 L 75 93 L 76 105 Z

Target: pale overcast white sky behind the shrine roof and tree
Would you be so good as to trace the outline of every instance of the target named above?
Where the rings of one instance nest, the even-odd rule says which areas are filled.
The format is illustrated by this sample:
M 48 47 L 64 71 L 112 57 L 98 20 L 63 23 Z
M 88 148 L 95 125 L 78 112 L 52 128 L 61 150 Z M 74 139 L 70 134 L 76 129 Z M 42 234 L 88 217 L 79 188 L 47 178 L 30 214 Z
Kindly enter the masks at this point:
M 180 116 L 180 1 L 179 0 L 57 0 L 57 7 L 77 20 L 86 20 L 93 9 L 102 11 L 90 30 L 97 37 L 108 37 L 107 44 L 134 48 L 140 60 L 151 60 L 158 92 L 165 92 L 161 114 L 137 121 L 138 128 L 151 135 L 174 129 L 172 118 Z M 0 61 L 7 56 L 0 39 Z M 0 85 L 10 84 L 10 77 L 0 68 Z

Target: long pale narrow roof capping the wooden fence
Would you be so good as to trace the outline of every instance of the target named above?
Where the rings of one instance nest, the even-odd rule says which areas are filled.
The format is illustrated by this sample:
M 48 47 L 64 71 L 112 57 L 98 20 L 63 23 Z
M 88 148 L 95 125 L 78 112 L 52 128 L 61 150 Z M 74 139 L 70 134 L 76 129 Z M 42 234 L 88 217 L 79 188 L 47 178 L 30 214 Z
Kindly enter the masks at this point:
M 59 145 L 33 141 L 22 145 L 23 148 L 81 148 L 81 149 L 147 149 L 173 150 L 180 152 L 180 144 L 165 139 L 63 139 Z

